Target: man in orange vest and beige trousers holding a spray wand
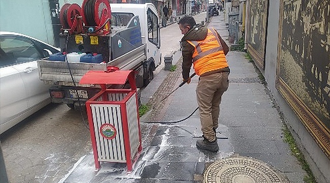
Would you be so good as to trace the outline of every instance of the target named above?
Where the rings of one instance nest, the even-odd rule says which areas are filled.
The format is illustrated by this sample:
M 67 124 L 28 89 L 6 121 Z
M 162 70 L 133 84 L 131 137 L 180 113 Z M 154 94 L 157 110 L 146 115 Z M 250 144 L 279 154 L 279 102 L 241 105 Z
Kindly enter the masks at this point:
M 218 151 L 216 138 L 222 94 L 228 88 L 229 67 L 225 55 L 229 49 L 214 28 L 196 25 L 193 17 L 185 16 L 178 22 L 182 42 L 182 77 L 190 83 L 191 65 L 200 76 L 196 87 L 203 140 L 197 140 L 200 149 Z

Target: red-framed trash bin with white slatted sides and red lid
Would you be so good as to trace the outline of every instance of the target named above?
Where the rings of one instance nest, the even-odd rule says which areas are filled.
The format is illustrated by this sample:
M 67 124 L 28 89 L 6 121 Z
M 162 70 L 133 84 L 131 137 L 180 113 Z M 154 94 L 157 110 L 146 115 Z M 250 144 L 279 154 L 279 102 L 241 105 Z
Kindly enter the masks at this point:
M 124 85 L 128 89 L 107 88 Z M 141 154 L 141 131 L 134 71 L 89 71 L 80 84 L 100 84 L 101 91 L 86 102 L 95 168 L 100 162 L 126 163 L 127 171 Z

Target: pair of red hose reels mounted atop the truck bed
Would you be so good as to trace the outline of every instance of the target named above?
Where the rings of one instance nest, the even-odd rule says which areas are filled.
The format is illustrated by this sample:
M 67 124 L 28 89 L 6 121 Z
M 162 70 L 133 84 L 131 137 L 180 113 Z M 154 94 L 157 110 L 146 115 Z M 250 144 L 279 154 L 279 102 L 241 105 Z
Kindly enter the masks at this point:
M 84 0 L 82 8 L 77 4 L 64 4 L 60 10 L 63 29 L 72 33 L 106 35 L 111 31 L 111 8 L 108 0 Z M 82 28 L 84 23 L 84 28 Z

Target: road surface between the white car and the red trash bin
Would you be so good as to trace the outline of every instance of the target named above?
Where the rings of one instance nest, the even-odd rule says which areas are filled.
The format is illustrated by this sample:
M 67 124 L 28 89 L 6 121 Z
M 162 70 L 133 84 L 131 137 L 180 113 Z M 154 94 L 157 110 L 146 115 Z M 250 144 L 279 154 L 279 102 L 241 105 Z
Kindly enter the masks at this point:
M 58 182 L 91 151 L 85 123 L 79 111 L 50 104 L 2 134 L 9 181 Z

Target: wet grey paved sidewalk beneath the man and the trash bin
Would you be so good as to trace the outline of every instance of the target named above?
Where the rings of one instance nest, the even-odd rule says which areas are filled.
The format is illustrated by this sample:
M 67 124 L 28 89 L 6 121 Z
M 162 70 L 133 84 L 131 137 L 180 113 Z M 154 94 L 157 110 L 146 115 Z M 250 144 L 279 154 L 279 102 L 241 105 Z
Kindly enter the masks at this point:
M 200 16 L 202 20 L 203 14 Z M 212 17 L 208 26 L 228 40 L 222 14 Z M 283 141 L 283 122 L 276 103 L 244 52 L 230 51 L 226 56 L 231 72 L 220 105 L 219 151 L 197 149 L 195 142 L 202 136 L 199 115 L 194 112 L 197 76 L 161 101 L 182 81 L 181 53 L 174 54 L 177 70 L 158 68 L 141 94 L 141 102 L 151 110 L 140 118 L 143 149 L 133 170 L 127 172 L 125 163 L 104 162 L 95 171 L 90 153 L 59 182 L 304 182 L 306 172 Z M 232 162 L 239 163 L 223 169 Z

